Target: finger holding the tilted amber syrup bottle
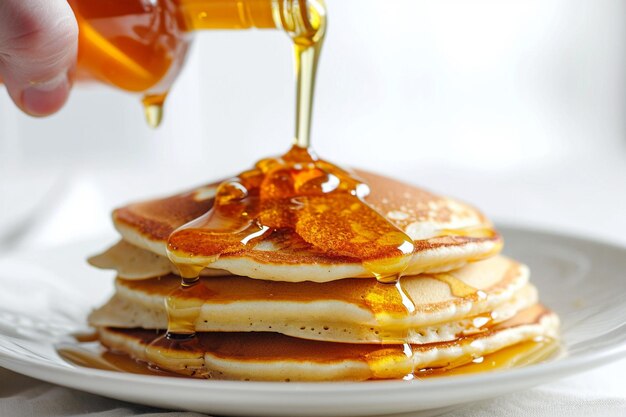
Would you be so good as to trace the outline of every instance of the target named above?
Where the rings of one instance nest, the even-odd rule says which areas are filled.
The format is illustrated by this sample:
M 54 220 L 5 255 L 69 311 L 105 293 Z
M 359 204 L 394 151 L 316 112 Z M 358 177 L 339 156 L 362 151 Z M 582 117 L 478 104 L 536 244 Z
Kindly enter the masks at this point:
M 26 113 L 59 110 L 71 87 L 78 25 L 66 0 L 0 1 L 0 76 Z

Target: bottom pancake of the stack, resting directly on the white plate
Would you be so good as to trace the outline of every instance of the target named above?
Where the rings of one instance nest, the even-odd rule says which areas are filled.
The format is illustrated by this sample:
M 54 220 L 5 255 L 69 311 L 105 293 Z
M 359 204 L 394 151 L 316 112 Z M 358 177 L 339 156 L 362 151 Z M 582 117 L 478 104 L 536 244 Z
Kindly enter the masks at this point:
M 413 370 L 459 366 L 524 341 L 552 337 L 558 318 L 534 305 L 484 332 L 451 342 L 407 346 L 310 341 L 278 333 L 200 333 L 191 344 L 143 329 L 100 328 L 101 342 L 157 367 L 193 377 L 266 381 L 402 378 Z

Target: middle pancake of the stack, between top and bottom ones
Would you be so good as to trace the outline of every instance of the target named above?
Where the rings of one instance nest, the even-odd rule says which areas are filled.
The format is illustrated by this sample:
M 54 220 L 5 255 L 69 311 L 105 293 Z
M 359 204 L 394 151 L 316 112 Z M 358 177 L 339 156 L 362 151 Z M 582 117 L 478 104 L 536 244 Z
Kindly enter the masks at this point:
M 167 328 L 165 298 L 177 299 L 198 332 L 279 332 L 347 343 L 432 343 L 452 340 L 512 317 L 537 301 L 528 269 L 497 256 L 446 274 L 402 277 L 400 288 L 375 280 L 275 282 L 201 278 L 194 292 L 180 278 L 116 280 L 116 294 L 95 310 L 95 327 Z

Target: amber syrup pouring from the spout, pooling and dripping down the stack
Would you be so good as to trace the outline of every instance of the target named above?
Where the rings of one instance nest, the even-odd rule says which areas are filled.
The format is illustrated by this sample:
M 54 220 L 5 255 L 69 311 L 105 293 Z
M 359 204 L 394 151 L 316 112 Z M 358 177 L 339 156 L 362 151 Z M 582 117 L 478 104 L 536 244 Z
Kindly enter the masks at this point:
M 273 233 L 286 233 L 325 253 L 359 260 L 379 282 L 396 286 L 406 314 L 414 310 L 398 282 L 412 256 L 413 240 L 365 202 L 369 188 L 364 182 L 318 158 L 311 148 L 325 6 L 319 1 L 277 1 L 274 13 L 293 43 L 293 145 L 284 155 L 263 159 L 223 182 L 210 211 L 170 235 L 168 257 L 182 276 L 181 285 L 166 299 L 168 330 L 148 347 L 148 357 L 166 355 L 173 345 L 193 350 L 204 291 L 197 285 L 200 271 L 220 256 L 257 245 Z M 182 293 L 186 296 L 180 297 Z M 410 349 L 408 343 L 404 345 L 409 359 Z

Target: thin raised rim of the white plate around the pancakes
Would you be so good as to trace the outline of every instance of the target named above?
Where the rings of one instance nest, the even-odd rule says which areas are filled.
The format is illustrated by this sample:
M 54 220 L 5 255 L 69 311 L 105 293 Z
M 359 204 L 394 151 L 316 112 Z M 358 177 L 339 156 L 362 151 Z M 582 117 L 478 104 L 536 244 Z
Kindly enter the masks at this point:
M 523 225 L 511 222 L 496 221 L 496 226 L 502 234 L 508 233 L 530 233 L 539 234 L 546 237 L 576 240 L 583 243 L 590 243 L 592 245 L 599 245 L 609 247 L 613 250 L 623 251 L 626 255 L 626 245 L 621 242 L 614 242 L 596 236 L 583 236 L 577 232 L 562 231 L 556 229 L 550 229 L 546 227 L 538 227 L 535 225 Z M 94 241 L 97 239 L 93 239 Z M 77 243 L 77 242 L 73 242 Z M 72 243 L 70 243 L 72 244 Z M 54 250 L 56 247 L 42 248 L 39 251 Z M 19 254 L 20 250 L 8 251 L 0 259 L 10 258 Z M 611 330 L 610 334 L 617 333 L 626 335 L 626 321 L 620 326 Z M 4 339 L 8 339 L 10 342 L 20 341 L 21 339 L 13 338 L 6 335 L 0 335 Z M 603 348 L 599 351 L 583 352 L 579 356 L 571 357 L 567 354 L 564 357 L 558 358 L 553 361 L 544 362 L 535 365 L 529 365 L 522 368 L 507 369 L 500 372 L 487 372 L 481 374 L 471 375 L 459 375 L 450 376 L 446 378 L 434 378 L 427 380 L 416 379 L 413 381 L 365 381 L 365 382 L 265 382 L 265 381 L 228 381 L 228 380 L 198 380 L 187 378 L 173 378 L 164 376 L 152 376 L 152 375 L 138 375 L 123 372 L 113 372 L 106 370 L 98 370 L 91 368 L 84 368 L 67 363 L 64 366 L 61 363 L 54 363 L 48 361 L 37 361 L 30 357 L 16 357 L 7 353 L 0 347 L 0 366 L 12 370 L 14 372 L 47 381 L 56 385 L 64 385 L 70 388 L 80 389 L 83 391 L 94 392 L 87 389 L 87 387 L 78 387 L 74 384 L 64 384 L 62 381 L 58 381 L 54 378 L 47 378 L 46 372 L 56 372 L 61 376 L 70 377 L 70 379 L 81 378 L 102 378 L 110 382 L 124 382 L 124 383 L 141 383 L 144 386 L 172 386 L 172 388 L 180 389 L 203 389 L 203 390 L 219 390 L 229 392 L 248 392 L 248 393 L 268 393 L 273 394 L 297 394 L 304 393 L 306 395 L 324 395 L 330 392 L 341 392 L 344 394 L 349 393 L 368 393 L 372 391 L 385 392 L 391 390 L 398 394 L 406 394 L 406 391 L 413 391 L 416 388 L 422 392 L 428 392 L 430 390 L 436 390 L 442 387 L 449 389 L 460 389 L 466 387 L 469 383 L 481 383 L 489 381 L 490 383 L 499 383 L 510 380 L 518 381 L 535 381 L 532 385 L 541 383 L 542 376 L 559 374 L 559 378 L 569 376 L 575 373 L 584 372 L 591 368 L 616 361 L 622 358 L 626 358 L 626 338 L 620 343 Z M 61 361 L 62 358 L 59 357 Z M 25 373 L 22 368 L 33 367 L 35 372 Z M 32 369 L 32 368 L 31 368 Z M 40 371 L 37 371 L 39 369 Z M 545 378 L 544 378 L 545 379 Z M 553 378 L 548 378 L 553 379 Z M 557 379 L 557 378 L 554 378 Z M 538 382 L 537 382 L 538 381 Z M 531 386 L 524 384 L 525 386 Z

